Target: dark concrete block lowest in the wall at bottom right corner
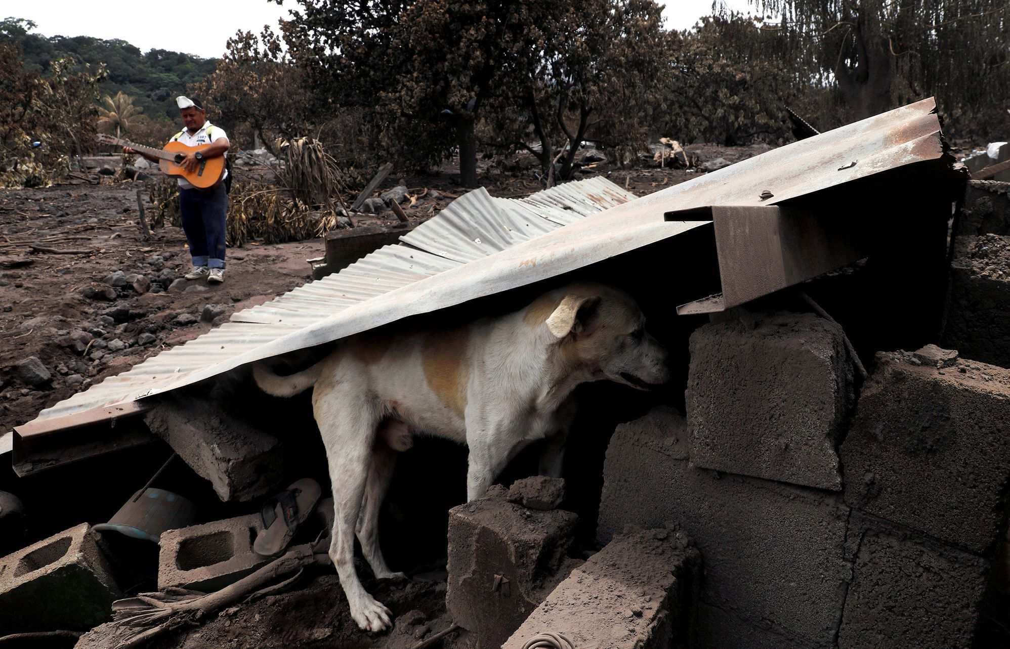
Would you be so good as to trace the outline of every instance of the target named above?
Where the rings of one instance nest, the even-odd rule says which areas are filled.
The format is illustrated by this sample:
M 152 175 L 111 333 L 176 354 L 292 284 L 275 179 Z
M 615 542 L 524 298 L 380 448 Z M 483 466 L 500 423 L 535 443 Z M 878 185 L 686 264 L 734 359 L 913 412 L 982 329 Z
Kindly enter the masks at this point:
M 852 513 L 839 649 L 972 647 L 989 562 Z

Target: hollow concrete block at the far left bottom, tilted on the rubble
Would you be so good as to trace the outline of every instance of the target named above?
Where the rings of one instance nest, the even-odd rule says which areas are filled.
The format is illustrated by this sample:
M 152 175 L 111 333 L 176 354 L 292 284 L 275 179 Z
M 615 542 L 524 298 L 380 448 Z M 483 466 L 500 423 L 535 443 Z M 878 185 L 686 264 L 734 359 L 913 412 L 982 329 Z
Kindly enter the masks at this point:
M 82 523 L 0 558 L 0 636 L 90 629 L 110 617 L 119 594 Z

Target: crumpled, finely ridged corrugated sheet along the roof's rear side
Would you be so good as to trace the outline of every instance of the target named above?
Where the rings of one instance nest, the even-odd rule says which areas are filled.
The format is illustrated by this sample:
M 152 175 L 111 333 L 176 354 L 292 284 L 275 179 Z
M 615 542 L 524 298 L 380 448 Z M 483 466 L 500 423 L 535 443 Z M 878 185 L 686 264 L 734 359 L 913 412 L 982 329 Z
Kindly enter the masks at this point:
M 565 192 L 558 191 L 561 189 Z M 542 194 L 547 195 L 544 200 L 550 205 L 543 211 L 550 212 L 552 219 L 537 215 L 537 208 L 528 203 L 529 198 Z M 221 327 L 43 410 L 35 422 L 161 392 L 196 369 L 248 353 L 367 300 L 561 228 L 563 218 L 556 212 L 582 220 L 593 213 L 594 206 L 599 212 L 634 195 L 606 179 L 594 178 L 533 197 L 493 198 L 484 188 L 469 192 L 401 237 L 409 245 L 384 246 L 339 273 L 237 312 Z

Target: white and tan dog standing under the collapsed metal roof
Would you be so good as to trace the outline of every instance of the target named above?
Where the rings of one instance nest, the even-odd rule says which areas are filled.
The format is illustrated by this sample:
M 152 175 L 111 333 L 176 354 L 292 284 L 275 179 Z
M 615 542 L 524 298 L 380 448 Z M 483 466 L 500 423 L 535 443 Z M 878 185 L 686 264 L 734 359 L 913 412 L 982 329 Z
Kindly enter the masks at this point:
M 310 387 L 333 483 L 329 555 L 362 629 L 391 626 L 354 564 L 355 533 L 377 577 L 392 572 L 378 520 L 395 452 L 410 430 L 467 444 L 467 499 L 480 498 L 531 442 L 550 437 L 541 471 L 558 475 L 573 416 L 572 391 L 609 380 L 637 389 L 666 383 L 666 350 L 626 294 L 598 284 L 551 291 L 525 309 L 453 330 L 360 334 L 305 371 L 255 368 L 260 387 L 290 397 Z M 391 448 L 392 447 L 392 448 Z

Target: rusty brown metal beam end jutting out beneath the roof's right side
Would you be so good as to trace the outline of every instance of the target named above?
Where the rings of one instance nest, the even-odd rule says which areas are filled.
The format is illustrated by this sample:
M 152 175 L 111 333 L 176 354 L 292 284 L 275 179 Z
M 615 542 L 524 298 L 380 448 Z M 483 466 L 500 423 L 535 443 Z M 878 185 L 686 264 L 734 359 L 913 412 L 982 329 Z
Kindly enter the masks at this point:
M 690 210 L 692 217 L 703 211 Z M 709 208 L 722 294 L 677 308 L 680 315 L 739 306 L 870 254 L 874 228 L 858 215 L 786 206 Z M 668 213 L 670 220 L 679 213 Z

